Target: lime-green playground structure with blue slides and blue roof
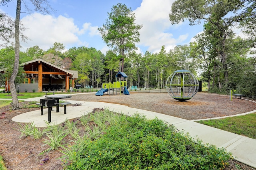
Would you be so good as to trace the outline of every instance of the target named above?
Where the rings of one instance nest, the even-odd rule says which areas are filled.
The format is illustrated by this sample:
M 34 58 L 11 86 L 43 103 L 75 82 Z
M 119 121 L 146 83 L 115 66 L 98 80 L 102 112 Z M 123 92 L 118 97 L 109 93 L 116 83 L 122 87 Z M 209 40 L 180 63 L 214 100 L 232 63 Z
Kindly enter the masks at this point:
M 127 78 L 128 76 L 124 72 L 118 72 L 116 74 L 116 79 L 121 79 L 122 77 Z M 114 95 L 114 91 L 119 91 L 119 94 L 130 94 L 127 90 L 127 82 L 126 81 L 116 81 L 116 82 L 109 82 L 109 83 L 103 83 L 102 89 L 100 89 L 98 92 L 96 92 L 95 96 L 102 96 L 105 92 L 108 92 L 109 95 Z

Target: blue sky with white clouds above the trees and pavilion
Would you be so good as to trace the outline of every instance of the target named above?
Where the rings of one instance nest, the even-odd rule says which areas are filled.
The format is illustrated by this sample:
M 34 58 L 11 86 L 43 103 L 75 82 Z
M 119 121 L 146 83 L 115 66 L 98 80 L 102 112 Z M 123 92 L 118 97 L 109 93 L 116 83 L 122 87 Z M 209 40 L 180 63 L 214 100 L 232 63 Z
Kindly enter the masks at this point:
M 47 50 L 57 42 L 62 43 L 66 50 L 72 47 L 94 47 L 105 54 L 110 48 L 102 40 L 98 28 L 106 23 L 108 12 L 118 3 L 131 8 L 136 24 L 142 25 L 140 42 L 136 43 L 137 53 L 159 53 L 163 45 L 168 52 L 176 45 L 189 44 L 203 30 L 202 24 L 190 26 L 188 21 L 176 25 L 170 23 L 169 14 L 174 0 L 48 1 L 55 12 L 47 15 L 33 11 L 29 13 L 22 6 L 20 20 L 27 28 L 23 34 L 29 39 L 26 43 L 21 42 L 20 51 L 35 45 Z M 13 0 L 8 6 L 0 6 L 0 10 L 15 18 L 16 2 Z

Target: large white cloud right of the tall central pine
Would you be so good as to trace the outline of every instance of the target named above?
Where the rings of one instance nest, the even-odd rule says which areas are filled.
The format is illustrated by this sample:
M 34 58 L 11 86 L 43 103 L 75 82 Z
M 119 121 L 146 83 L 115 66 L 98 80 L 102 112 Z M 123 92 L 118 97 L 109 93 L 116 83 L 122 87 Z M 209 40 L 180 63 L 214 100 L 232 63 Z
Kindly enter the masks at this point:
M 143 25 L 140 29 L 138 45 L 146 46 L 148 51 L 157 53 L 163 45 L 166 51 L 169 51 L 174 48 L 176 43 L 182 42 L 188 37 L 187 34 L 184 34 L 175 39 L 173 34 L 168 31 L 170 28 L 177 27 L 169 21 L 173 2 L 174 0 L 143 0 L 141 6 L 133 11 L 136 23 Z

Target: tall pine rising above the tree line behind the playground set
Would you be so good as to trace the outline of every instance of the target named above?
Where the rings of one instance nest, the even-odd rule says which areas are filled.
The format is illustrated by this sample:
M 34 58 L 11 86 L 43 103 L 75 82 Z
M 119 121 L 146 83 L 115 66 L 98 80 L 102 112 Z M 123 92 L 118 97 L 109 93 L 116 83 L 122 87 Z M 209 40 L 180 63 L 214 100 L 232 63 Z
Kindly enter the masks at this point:
M 141 27 L 142 25 L 135 24 L 135 16 L 131 8 L 118 3 L 108 13 L 106 23 L 98 29 L 104 42 L 121 56 L 122 69 L 120 64 L 120 71 L 124 71 L 125 54 L 136 49 L 135 42 L 140 41 Z

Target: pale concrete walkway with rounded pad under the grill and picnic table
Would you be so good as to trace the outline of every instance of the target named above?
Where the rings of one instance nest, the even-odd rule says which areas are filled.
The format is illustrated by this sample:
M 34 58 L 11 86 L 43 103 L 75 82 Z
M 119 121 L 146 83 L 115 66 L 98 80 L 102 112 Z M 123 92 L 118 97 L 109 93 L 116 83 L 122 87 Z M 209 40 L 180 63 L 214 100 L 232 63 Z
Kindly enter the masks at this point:
M 40 101 L 40 98 L 30 98 L 22 100 Z M 71 102 L 72 104 L 81 104 L 81 106 L 68 106 L 66 115 L 64 115 L 64 107 L 60 107 L 60 112 L 58 113 L 56 113 L 56 107 L 53 108 L 54 110 L 52 111 L 51 117 L 52 123 L 59 124 L 64 122 L 66 119 L 80 117 L 82 115 L 90 113 L 94 108 L 109 109 L 110 111 L 124 113 L 126 115 L 133 115 L 134 113 L 138 112 L 145 115 L 148 119 L 158 117 L 158 119 L 162 119 L 174 125 L 178 130 L 184 131 L 184 133 L 189 133 L 191 137 L 201 139 L 203 143 L 216 145 L 216 147 L 223 147 L 228 152 L 232 152 L 235 160 L 238 160 L 239 162 L 256 168 L 256 139 L 251 139 L 242 135 L 237 135 L 234 133 L 216 129 L 214 127 L 202 125 L 194 121 L 189 121 L 178 117 L 173 117 L 142 109 L 136 109 L 118 104 L 103 102 L 82 102 L 74 100 L 65 101 Z M 36 111 L 30 111 L 17 115 L 13 117 L 12 120 L 22 123 L 34 122 L 37 127 L 44 127 L 46 126 L 45 122 L 48 121 L 48 109 L 44 109 L 44 115 L 41 115 L 41 110 L 38 109 Z

